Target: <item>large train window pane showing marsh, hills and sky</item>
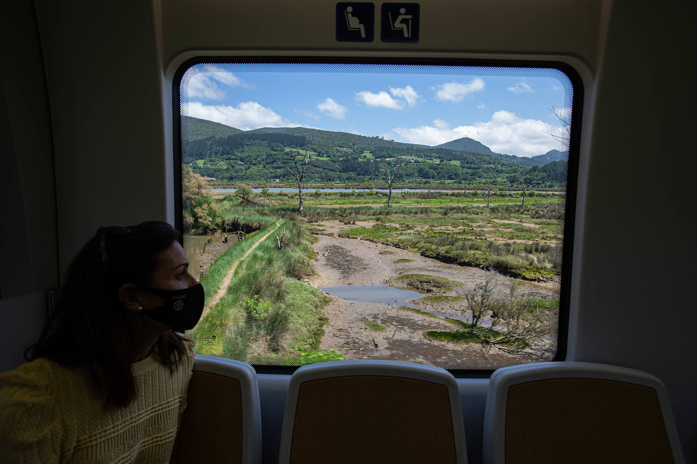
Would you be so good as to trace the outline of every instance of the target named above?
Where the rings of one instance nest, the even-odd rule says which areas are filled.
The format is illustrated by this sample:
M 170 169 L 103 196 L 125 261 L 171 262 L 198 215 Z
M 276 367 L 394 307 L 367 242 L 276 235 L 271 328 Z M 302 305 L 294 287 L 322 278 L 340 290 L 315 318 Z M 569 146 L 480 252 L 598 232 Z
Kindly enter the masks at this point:
M 573 70 L 287 60 L 201 59 L 176 77 L 197 351 L 462 372 L 562 358 Z

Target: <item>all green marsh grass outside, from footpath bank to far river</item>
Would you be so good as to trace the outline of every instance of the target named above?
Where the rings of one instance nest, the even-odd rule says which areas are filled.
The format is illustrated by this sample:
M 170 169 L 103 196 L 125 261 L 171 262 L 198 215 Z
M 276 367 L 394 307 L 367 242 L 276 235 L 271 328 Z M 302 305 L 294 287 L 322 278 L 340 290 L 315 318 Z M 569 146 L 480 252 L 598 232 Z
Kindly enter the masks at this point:
M 222 299 L 192 330 L 201 354 L 222 355 L 263 365 L 302 365 L 342 359 L 337 351 L 320 351 L 328 298 L 304 282 L 314 272 L 314 234 L 323 234 L 324 221 L 347 225 L 339 237 L 364 239 L 412 250 L 442 262 L 495 269 L 526 280 L 549 280 L 560 275 L 560 250 L 565 196 L 562 193 L 528 193 L 521 205 L 520 193 L 496 192 L 491 205 L 471 193 L 406 192 L 393 195 L 386 207 L 386 194 L 379 192 L 316 193 L 305 191 L 305 208 L 298 211 L 297 191 L 259 193 L 245 199 L 236 195 L 217 198 L 216 207 L 226 227 L 251 227 L 247 239 L 235 243 L 210 265 L 201 284 L 206 304 L 220 288 L 233 264 L 233 279 Z M 254 243 L 281 225 L 240 261 Z M 277 236 L 285 230 L 285 244 L 278 249 Z M 229 230 L 229 232 L 234 232 Z M 394 253 L 383 250 L 380 253 Z M 409 262 L 400 259 L 399 262 Z M 432 277 L 432 276 L 431 276 Z M 400 285 L 422 290 L 448 291 L 452 282 L 424 279 L 405 273 L 395 278 Z M 424 283 L 425 282 L 425 283 Z M 420 287 L 419 287 L 420 288 Z M 443 298 L 427 296 L 436 303 Z M 522 301 L 522 300 L 521 300 Z M 523 302 L 530 312 L 558 310 L 557 300 Z M 404 310 L 427 312 L 402 307 Z M 503 335 L 495 330 L 473 332 L 470 326 L 448 319 L 453 331 L 428 331 L 426 337 L 449 342 L 487 342 Z M 363 320 L 371 331 L 384 326 Z M 503 342 L 508 343 L 507 339 Z

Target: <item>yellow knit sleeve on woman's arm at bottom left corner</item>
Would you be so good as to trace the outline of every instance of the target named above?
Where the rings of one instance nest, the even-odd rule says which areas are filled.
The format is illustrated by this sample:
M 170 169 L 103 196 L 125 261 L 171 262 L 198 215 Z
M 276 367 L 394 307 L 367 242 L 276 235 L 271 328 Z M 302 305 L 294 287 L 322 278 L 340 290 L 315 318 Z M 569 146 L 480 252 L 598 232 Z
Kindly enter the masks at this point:
M 0 458 L 6 463 L 59 463 L 63 422 L 52 366 L 38 359 L 0 374 Z

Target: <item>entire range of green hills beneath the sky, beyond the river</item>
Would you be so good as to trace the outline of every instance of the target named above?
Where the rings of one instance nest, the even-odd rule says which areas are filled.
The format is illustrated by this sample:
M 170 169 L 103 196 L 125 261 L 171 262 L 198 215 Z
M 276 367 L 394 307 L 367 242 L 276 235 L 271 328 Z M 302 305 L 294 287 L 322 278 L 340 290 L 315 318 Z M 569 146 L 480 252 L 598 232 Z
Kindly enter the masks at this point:
M 292 154 L 302 156 L 305 150 L 310 155 L 305 182 L 311 184 L 383 186 L 381 175 L 385 169 L 394 173 L 397 165 L 403 186 L 476 186 L 493 182 L 505 187 L 519 186 L 525 179 L 530 187 L 549 188 L 563 186 L 566 182 L 566 169 L 560 161 L 528 167 L 523 163 L 531 162 L 529 158 L 493 153 L 471 139 L 461 146 L 486 149 L 489 153 L 455 151 L 305 127 L 239 131 L 215 123 L 206 125 L 194 118 L 187 121 L 190 129 L 196 130 L 190 131 L 190 140 L 184 143 L 183 162 L 191 166 L 194 173 L 229 183 L 268 184 L 271 179 L 280 179 L 292 184 L 295 182 L 289 170 L 293 167 Z M 206 136 L 211 130 L 222 130 L 221 126 L 232 134 Z

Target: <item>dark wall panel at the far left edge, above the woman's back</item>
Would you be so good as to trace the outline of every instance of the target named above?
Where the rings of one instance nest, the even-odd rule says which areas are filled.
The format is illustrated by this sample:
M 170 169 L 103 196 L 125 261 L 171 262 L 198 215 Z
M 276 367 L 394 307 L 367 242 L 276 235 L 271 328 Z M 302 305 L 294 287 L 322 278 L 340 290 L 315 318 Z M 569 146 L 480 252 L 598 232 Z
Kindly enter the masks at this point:
M 0 298 L 8 298 L 56 287 L 58 255 L 51 121 L 36 20 L 29 1 L 3 6 L 3 14 L 14 19 L 0 28 Z

